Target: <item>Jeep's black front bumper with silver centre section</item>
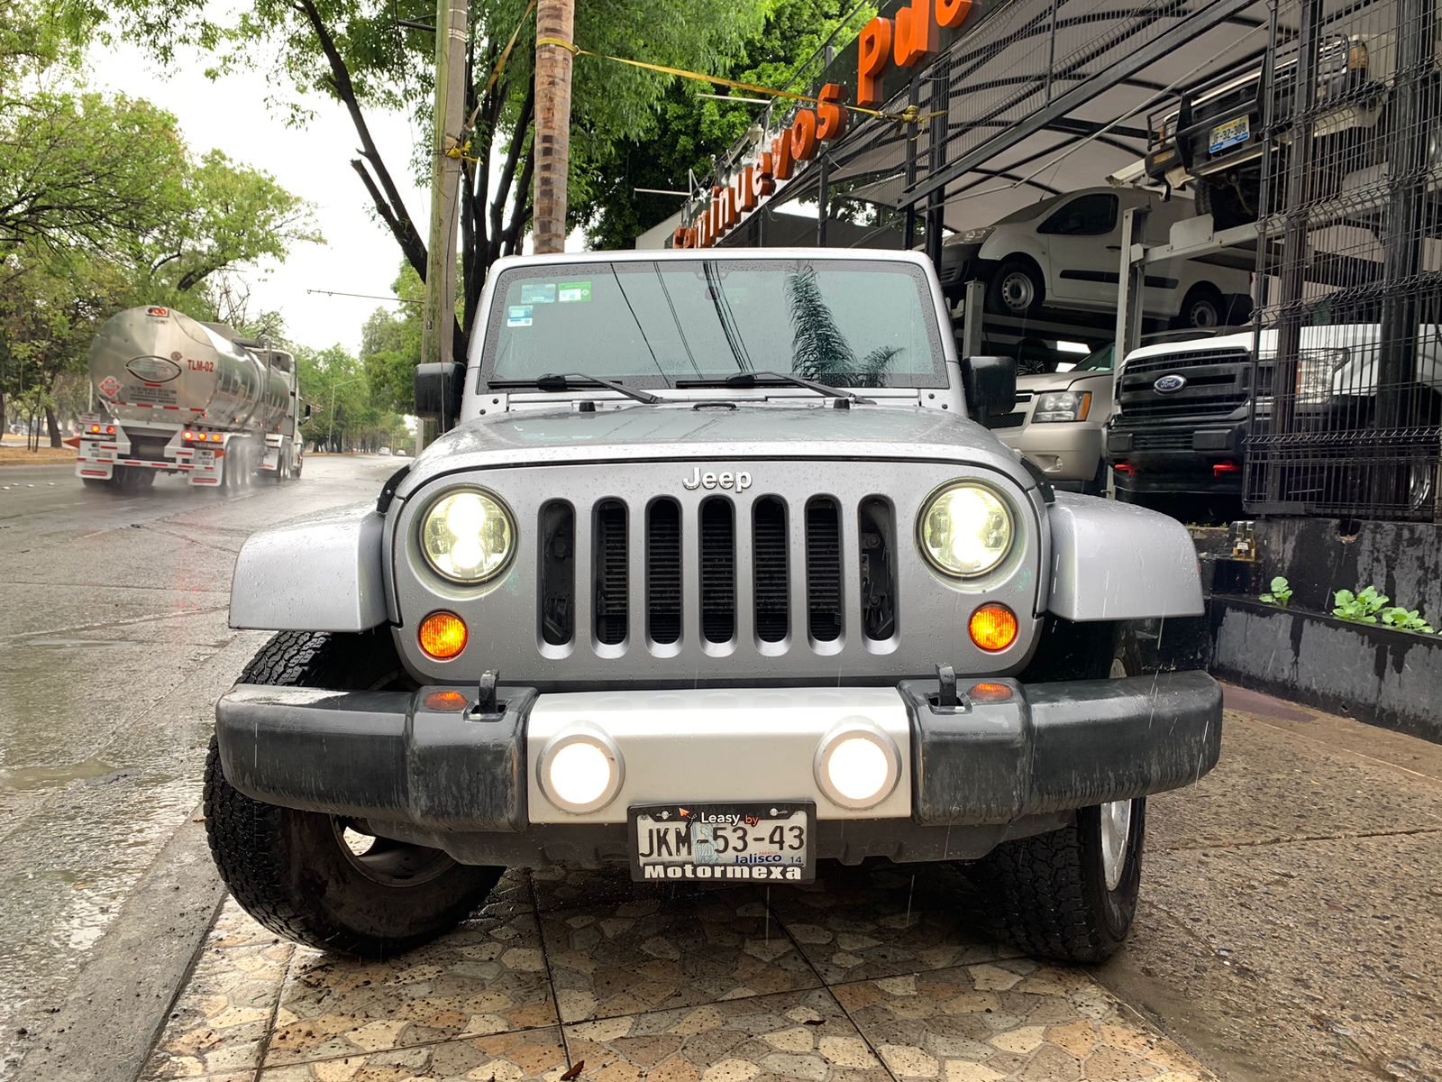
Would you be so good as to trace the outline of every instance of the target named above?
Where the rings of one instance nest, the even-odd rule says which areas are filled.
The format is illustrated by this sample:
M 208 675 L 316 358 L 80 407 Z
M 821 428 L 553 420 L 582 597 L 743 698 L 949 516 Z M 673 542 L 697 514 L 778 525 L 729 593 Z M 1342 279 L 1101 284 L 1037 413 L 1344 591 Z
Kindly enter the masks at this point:
M 1190 785 L 1217 762 L 1221 691 L 1204 672 L 988 679 L 994 698 L 1009 692 L 1001 701 L 969 697 L 968 684 L 955 708 L 937 705 L 940 687 L 924 679 L 570 695 L 503 687 L 489 714 L 456 688 L 239 684 L 216 707 L 216 736 L 226 779 L 248 796 L 503 864 L 623 858 L 629 804 L 717 798 L 813 801 L 819 857 L 979 857 L 1074 808 Z M 826 733 L 858 718 L 888 731 L 901 762 L 897 789 L 865 812 L 831 802 L 810 769 Z M 568 726 L 604 733 L 620 753 L 626 782 L 607 808 L 559 814 L 541 788 L 542 747 L 531 744 Z

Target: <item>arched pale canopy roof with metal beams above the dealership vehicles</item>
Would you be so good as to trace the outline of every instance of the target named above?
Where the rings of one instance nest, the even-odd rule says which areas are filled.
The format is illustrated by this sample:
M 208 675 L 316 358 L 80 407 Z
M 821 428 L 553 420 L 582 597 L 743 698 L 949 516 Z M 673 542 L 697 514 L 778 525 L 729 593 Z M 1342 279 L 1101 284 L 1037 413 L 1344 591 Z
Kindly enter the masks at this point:
M 1328 13 L 1366 6 L 1325 3 Z M 1048 195 L 1105 183 L 1141 162 L 1148 114 L 1174 107 L 1180 89 L 1260 61 L 1269 9 L 1265 0 L 989 4 L 885 107 L 895 113 L 914 102 L 923 114 L 945 108 L 945 164 L 929 167 L 927 120 L 903 126 L 852 114 L 851 131 L 828 151 L 828 190 L 832 199 L 891 208 L 916 202 L 919 209 L 939 190 L 946 226 L 960 231 Z M 1279 0 L 1279 9 L 1278 39 L 1292 40 L 1295 0 Z M 828 78 L 849 85 L 854 52 L 838 63 L 852 71 L 828 71 Z M 910 185 L 908 147 L 916 160 Z M 816 182 L 812 160 L 773 203 L 813 201 Z

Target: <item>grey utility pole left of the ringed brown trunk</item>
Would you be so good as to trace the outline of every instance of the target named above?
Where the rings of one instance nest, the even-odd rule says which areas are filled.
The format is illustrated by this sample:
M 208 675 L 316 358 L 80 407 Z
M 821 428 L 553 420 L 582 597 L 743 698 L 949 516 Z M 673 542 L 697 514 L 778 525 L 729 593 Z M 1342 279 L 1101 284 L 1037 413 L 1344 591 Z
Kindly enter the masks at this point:
M 421 362 L 453 359 L 456 340 L 456 205 L 459 136 L 466 123 L 466 23 L 469 0 L 435 4 L 435 126 L 431 136 L 431 239 L 425 258 Z M 464 359 L 464 358 L 461 358 Z

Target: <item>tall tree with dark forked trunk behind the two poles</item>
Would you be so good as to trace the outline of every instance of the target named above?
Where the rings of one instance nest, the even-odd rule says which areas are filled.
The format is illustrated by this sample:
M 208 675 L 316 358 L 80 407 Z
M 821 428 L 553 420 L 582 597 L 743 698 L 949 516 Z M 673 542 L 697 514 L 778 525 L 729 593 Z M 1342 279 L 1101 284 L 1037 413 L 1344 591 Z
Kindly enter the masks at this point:
M 774 0 L 578 0 L 575 40 L 596 52 L 722 72 Z M 433 94 L 431 35 L 410 23 L 434 14 L 427 0 L 255 0 L 231 20 L 212 17 L 205 0 L 120 0 L 123 33 L 163 61 L 180 45 L 213 48 L 216 71 L 264 63 L 291 91 L 290 117 L 304 123 L 323 95 L 350 117 L 360 144 L 350 167 L 360 177 L 381 222 L 407 263 L 425 274 L 425 241 L 395 183 L 398 163 L 386 162 L 371 134 L 366 111 L 407 108 L 424 121 L 415 163 L 430 176 Z M 535 22 L 526 0 L 479 0 L 470 9 L 469 150 L 460 205 L 461 299 L 456 355 L 480 303 L 490 264 L 518 252 L 531 218 L 531 128 L 535 110 L 532 59 Z M 519 29 L 505 68 L 500 58 Z M 572 94 L 572 195 L 587 205 L 616 140 L 642 138 L 655 128 L 655 107 L 673 79 L 594 58 L 575 65 Z M 298 97 L 296 95 L 298 92 Z M 575 221 L 583 221 L 580 216 Z

